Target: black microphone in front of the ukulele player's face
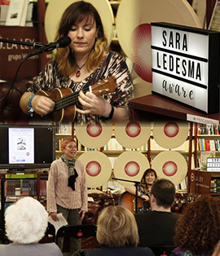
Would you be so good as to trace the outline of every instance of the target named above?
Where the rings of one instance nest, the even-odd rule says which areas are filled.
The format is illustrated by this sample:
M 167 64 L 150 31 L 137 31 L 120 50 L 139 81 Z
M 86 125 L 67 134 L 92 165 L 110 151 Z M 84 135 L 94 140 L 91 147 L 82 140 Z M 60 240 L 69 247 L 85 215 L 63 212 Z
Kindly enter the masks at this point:
M 41 54 L 43 52 L 53 51 L 56 48 L 65 48 L 70 44 L 70 42 L 71 42 L 71 38 L 62 37 L 62 38 L 59 38 L 56 42 L 50 42 L 48 45 L 42 46 L 36 51 L 31 52 L 28 56 L 31 57 L 34 55 Z

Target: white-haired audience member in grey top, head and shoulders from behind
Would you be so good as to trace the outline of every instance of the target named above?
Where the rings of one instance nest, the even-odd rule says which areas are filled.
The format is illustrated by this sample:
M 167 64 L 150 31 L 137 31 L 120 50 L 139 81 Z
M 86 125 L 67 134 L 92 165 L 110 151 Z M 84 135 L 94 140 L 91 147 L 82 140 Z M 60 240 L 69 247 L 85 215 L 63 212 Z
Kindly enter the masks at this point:
M 1 256 L 62 256 L 55 243 L 37 244 L 46 232 L 48 214 L 33 197 L 24 197 L 7 207 L 6 233 L 9 245 L 0 245 Z

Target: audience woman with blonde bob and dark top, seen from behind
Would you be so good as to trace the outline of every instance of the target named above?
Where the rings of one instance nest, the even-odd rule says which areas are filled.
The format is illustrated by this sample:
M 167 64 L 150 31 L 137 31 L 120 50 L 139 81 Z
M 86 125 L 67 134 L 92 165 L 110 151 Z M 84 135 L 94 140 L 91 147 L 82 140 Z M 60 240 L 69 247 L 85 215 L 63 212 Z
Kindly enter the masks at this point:
M 139 233 L 134 214 L 122 206 L 108 206 L 99 215 L 97 241 L 101 249 L 93 249 L 88 256 L 152 256 L 149 248 L 137 247 Z

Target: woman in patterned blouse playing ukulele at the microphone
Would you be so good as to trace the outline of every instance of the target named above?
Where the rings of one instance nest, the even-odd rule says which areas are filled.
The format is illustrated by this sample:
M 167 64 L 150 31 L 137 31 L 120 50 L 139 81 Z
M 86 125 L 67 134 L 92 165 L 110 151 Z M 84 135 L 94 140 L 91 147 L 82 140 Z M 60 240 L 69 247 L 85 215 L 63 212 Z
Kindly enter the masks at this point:
M 78 123 L 88 121 L 128 121 L 128 99 L 134 95 L 130 72 L 125 57 L 109 51 L 99 13 L 89 2 L 73 2 L 62 15 L 55 41 L 68 36 L 71 43 L 58 48 L 55 58 L 50 60 L 37 77 L 35 84 L 22 95 L 20 107 L 24 113 L 45 116 L 55 108 L 55 102 L 37 90 L 70 88 L 79 92 L 76 105 Z M 89 88 L 104 78 L 116 77 L 115 92 L 97 96 Z M 74 116 L 74 113 L 73 113 Z

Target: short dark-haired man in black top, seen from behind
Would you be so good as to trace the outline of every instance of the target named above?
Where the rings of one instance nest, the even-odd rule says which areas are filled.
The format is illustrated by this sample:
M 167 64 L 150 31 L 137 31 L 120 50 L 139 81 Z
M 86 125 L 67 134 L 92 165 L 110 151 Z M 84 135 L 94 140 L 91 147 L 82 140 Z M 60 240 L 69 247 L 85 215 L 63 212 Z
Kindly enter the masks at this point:
M 134 214 L 139 228 L 139 246 L 174 245 L 178 214 L 171 213 L 175 186 L 169 179 L 157 179 L 152 185 L 152 211 Z

